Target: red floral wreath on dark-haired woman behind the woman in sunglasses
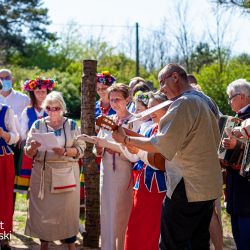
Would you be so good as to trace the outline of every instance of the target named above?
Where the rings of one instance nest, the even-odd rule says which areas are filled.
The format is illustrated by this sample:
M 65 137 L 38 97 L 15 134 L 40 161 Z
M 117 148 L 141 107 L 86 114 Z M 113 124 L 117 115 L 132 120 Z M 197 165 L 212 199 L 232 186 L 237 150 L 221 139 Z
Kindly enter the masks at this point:
M 35 89 L 49 89 L 52 90 L 56 86 L 56 81 L 53 79 L 45 79 L 38 76 L 34 80 L 27 80 L 23 85 L 23 90 L 34 91 Z

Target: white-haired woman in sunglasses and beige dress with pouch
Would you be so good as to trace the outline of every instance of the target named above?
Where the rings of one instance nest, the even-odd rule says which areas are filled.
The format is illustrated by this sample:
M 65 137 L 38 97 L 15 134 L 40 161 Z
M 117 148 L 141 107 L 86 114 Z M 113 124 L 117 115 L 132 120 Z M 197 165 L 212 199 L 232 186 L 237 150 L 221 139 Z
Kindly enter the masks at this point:
M 63 116 L 66 105 L 59 92 L 48 94 L 42 107 L 48 116 L 34 122 L 25 146 L 26 155 L 34 159 L 25 234 L 39 238 L 41 249 L 48 249 L 49 241 L 65 240 L 73 250 L 80 209 L 78 159 L 86 145 L 76 139 L 80 134 L 76 122 Z M 49 132 L 59 146 L 44 150 L 34 135 Z

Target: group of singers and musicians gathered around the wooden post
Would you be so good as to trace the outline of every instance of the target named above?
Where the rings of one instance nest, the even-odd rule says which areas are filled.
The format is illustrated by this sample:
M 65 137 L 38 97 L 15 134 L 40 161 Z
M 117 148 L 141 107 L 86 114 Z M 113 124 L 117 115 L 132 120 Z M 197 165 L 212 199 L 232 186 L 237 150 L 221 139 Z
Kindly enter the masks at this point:
M 250 138 L 250 83 L 238 79 L 228 85 L 228 103 L 241 124 L 221 139 L 222 114 L 193 75 L 170 63 L 158 80 L 155 90 L 140 77 L 127 85 L 108 71 L 96 75 L 95 116 L 117 125 L 114 131 L 96 127 L 92 137 L 100 169 L 101 248 L 208 250 L 211 238 L 215 250 L 222 250 L 224 175 L 236 247 L 250 249 L 250 174 L 242 170 Z M 27 80 L 23 90 L 29 97 L 15 91 L 13 82 L 11 71 L 1 69 L 0 233 L 13 230 L 15 193 L 28 193 L 24 233 L 39 238 L 42 250 L 55 240 L 73 250 L 79 159 L 86 144 L 78 140 L 76 121 L 65 116 L 53 79 Z M 53 134 L 58 145 L 43 148 L 37 134 Z M 230 155 L 224 160 L 218 157 L 220 141 Z M 11 249 L 8 239 L 1 240 L 1 249 Z

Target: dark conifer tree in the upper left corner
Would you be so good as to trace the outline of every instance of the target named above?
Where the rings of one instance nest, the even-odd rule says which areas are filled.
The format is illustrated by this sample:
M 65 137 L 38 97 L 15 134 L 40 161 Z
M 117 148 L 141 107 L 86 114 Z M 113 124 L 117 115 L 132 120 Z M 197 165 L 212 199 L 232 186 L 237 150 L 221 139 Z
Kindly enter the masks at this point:
M 0 0 L 0 62 L 8 62 L 15 51 L 25 53 L 28 41 L 55 39 L 46 30 L 48 9 L 41 0 Z

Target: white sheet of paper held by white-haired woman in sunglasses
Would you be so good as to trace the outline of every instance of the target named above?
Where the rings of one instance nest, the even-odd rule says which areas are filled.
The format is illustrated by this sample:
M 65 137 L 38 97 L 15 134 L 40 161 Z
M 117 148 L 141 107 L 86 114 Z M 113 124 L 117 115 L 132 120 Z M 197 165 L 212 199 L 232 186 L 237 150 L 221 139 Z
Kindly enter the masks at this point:
M 52 148 L 60 147 L 54 132 L 34 133 L 32 136 L 34 140 L 41 143 L 41 146 L 38 148 L 39 151 L 52 151 Z

